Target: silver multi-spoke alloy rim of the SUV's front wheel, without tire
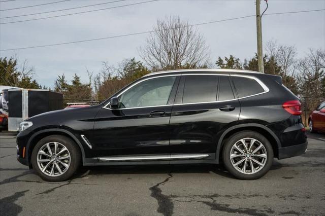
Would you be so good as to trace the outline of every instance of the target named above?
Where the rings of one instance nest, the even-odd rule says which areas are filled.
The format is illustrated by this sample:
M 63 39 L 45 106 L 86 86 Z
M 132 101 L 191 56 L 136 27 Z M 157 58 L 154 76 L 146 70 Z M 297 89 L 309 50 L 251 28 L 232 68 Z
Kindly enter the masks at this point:
M 48 142 L 37 153 L 37 164 L 48 176 L 59 176 L 70 167 L 70 152 L 59 142 Z

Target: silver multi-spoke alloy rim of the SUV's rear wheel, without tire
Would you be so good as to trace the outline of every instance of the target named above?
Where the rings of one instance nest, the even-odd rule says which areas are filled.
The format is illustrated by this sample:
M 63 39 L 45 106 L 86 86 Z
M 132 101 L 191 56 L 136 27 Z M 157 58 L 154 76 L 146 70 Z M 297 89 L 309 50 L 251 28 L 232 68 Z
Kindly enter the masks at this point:
M 244 174 L 253 174 L 262 170 L 267 158 L 268 155 L 263 143 L 249 137 L 235 142 L 230 151 L 232 165 Z

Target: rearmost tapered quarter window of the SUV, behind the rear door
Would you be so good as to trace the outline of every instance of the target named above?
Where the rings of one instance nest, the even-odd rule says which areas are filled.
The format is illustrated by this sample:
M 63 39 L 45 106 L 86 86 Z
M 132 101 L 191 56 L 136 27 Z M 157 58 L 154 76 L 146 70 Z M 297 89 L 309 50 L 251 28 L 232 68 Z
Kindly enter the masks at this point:
M 238 97 L 247 97 L 250 95 L 264 92 L 262 86 L 259 85 L 254 79 L 235 76 L 232 76 L 232 79 L 234 81 Z

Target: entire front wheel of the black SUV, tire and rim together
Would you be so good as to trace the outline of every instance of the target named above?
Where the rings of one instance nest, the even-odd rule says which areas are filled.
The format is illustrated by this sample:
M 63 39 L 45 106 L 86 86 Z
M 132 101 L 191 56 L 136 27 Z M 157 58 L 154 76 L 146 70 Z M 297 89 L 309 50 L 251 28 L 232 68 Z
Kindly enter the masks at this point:
M 45 181 L 66 181 L 77 172 L 81 164 L 80 149 L 72 139 L 66 136 L 50 135 L 41 139 L 32 150 L 31 164 Z

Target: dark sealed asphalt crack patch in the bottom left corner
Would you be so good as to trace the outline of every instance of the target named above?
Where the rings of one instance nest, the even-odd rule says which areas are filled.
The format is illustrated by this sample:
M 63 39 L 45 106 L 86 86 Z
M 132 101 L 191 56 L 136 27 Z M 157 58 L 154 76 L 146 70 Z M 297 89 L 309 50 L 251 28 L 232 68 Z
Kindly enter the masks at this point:
M 4 215 L 18 215 L 22 211 L 22 207 L 15 202 L 19 197 L 25 196 L 29 190 L 16 192 L 14 195 L 0 199 L 0 212 Z

